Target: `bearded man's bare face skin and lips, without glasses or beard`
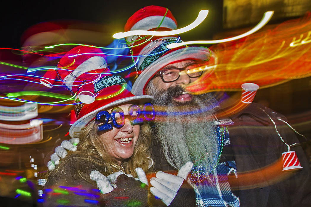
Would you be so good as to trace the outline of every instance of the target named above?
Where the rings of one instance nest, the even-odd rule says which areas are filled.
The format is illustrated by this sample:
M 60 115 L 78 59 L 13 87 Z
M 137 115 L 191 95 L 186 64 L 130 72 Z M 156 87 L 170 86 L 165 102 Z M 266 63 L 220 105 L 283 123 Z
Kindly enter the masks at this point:
M 162 70 L 165 69 L 169 69 L 169 68 L 180 68 L 183 69 L 184 67 L 193 64 L 194 61 L 192 60 L 185 60 L 185 61 L 180 61 L 180 62 L 176 62 L 176 63 L 172 63 L 169 65 L 166 65 Z M 174 86 L 185 86 L 189 83 L 192 83 L 193 81 L 197 80 L 199 77 L 196 78 L 191 78 L 189 77 L 186 72 L 183 70 L 180 72 L 180 77 L 175 80 L 174 82 L 170 82 L 170 83 L 165 83 L 163 82 L 163 80 L 161 79 L 160 76 L 155 77 L 154 79 L 152 79 L 153 84 L 156 86 L 157 89 L 159 90 L 164 90 L 166 91 L 169 87 L 174 87 Z M 186 101 L 191 101 L 193 99 L 193 96 L 191 94 L 189 94 L 188 92 L 183 92 L 183 94 L 173 97 L 173 100 L 179 103 L 183 103 Z

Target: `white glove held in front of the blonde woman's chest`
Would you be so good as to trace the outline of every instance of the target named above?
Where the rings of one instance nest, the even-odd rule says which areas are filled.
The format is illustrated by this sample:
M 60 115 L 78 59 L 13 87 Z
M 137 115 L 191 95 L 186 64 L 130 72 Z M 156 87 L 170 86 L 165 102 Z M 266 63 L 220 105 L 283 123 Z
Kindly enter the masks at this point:
M 142 183 L 145 183 L 148 186 L 148 181 L 145 172 L 142 170 L 142 168 L 136 168 L 135 169 L 138 178 L 135 178 L 136 180 L 139 180 Z M 100 191 L 103 194 L 109 193 L 114 188 L 116 188 L 116 182 L 119 175 L 125 174 L 122 171 L 118 171 L 116 173 L 112 173 L 108 175 L 107 177 L 101 174 L 100 172 L 93 170 L 90 174 L 90 177 L 92 180 L 96 181 L 97 187 L 100 189 Z M 129 178 L 133 178 L 130 174 L 125 174 Z

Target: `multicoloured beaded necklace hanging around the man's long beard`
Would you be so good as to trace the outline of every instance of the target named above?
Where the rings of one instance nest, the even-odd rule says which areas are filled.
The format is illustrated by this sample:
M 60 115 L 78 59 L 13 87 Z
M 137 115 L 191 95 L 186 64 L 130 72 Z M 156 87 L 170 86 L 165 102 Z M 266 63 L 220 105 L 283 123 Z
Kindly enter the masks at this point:
M 218 150 L 216 155 L 214 156 L 214 165 L 215 167 L 219 163 L 219 159 L 222 153 L 222 149 L 224 146 L 225 141 L 225 135 L 227 133 L 228 127 L 226 126 L 219 126 L 217 125 L 214 133 L 216 133 L 216 136 L 218 138 Z M 211 171 L 210 171 L 211 173 Z M 194 164 L 193 168 L 191 170 L 190 180 L 193 183 L 199 184 L 207 179 L 207 173 L 205 166 Z

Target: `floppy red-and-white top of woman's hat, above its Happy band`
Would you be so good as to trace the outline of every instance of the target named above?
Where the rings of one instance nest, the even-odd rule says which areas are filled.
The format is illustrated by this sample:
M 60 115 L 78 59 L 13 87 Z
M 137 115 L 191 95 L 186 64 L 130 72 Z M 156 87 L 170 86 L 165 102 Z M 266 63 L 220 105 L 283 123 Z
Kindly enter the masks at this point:
M 54 70 L 48 70 L 44 74 L 40 82 L 52 88 L 58 78 L 72 94 L 77 93 L 80 101 L 92 103 L 96 92 L 94 82 L 110 72 L 105 55 L 98 53 L 102 53 L 99 48 L 74 47 L 60 59 Z

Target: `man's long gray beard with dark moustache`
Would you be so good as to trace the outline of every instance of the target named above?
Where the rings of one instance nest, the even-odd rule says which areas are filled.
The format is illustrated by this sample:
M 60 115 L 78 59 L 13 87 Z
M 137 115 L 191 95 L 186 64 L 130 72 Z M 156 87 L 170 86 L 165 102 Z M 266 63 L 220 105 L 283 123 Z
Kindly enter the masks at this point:
M 180 86 L 170 88 L 159 90 L 152 81 L 147 85 L 146 93 L 154 97 L 153 104 L 167 106 L 169 121 L 156 123 L 156 138 L 169 164 L 180 169 L 183 164 L 192 161 L 196 166 L 205 167 L 211 181 L 216 175 L 218 159 L 218 138 L 212 122 L 216 100 L 211 94 L 203 94 L 194 96 L 186 104 L 176 102 L 174 94 L 181 95 L 184 90 Z M 179 113 L 176 114 L 176 111 Z

